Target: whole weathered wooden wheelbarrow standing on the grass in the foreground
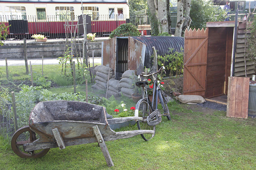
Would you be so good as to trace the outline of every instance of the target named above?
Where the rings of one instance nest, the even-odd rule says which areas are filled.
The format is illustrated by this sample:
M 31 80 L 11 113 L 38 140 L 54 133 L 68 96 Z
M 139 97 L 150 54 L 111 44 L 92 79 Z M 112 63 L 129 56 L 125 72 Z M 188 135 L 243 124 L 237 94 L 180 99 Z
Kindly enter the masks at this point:
M 98 142 L 108 166 L 113 162 L 104 141 L 133 137 L 153 130 L 114 132 L 109 124 L 142 117 L 111 118 L 102 106 L 77 101 L 39 102 L 30 113 L 29 126 L 17 130 L 11 140 L 15 154 L 20 157 L 41 157 L 50 148 Z M 22 140 L 23 139 L 23 140 Z

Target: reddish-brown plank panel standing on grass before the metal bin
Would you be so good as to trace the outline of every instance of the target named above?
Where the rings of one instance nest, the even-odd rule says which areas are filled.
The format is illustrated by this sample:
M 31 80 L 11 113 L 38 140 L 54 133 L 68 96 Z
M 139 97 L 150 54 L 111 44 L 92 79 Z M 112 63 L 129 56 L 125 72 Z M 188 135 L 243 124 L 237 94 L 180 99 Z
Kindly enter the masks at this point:
M 228 77 L 227 117 L 248 116 L 249 77 Z

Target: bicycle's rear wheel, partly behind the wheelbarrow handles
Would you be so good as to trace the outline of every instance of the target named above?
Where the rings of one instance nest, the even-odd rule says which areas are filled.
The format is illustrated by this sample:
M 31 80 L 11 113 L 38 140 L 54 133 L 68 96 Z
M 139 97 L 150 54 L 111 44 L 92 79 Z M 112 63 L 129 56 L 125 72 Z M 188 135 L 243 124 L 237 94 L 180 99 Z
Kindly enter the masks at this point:
M 156 132 L 156 126 L 148 126 L 147 124 L 147 117 L 150 113 L 153 112 L 153 109 L 150 105 L 148 105 L 148 102 L 146 99 L 141 99 L 140 101 L 137 102 L 135 111 L 138 110 L 139 117 L 142 117 L 142 121 L 137 121 L 137 126 L 139 130 L 154 130 L 154 134 L 148 134 L 144 133 L 141 134 L 141 137 L 145 140 L 148 141 L 152 137 L 154 137 L 155 132 Z

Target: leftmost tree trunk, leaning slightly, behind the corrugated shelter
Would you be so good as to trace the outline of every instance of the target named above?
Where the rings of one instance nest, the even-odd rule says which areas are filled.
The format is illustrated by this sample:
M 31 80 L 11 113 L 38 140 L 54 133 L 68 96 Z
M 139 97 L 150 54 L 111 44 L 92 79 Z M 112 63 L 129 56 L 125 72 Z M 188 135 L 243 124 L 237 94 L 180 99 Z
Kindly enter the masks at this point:
M 151 25 L 151 34 L 152 35 L 158 35 L 159 29 L 158 29 L 158 18 L 156 15 L 156 6 L 154 0 L 147 0 L 148 2 L 148 9 L 149 9 L 149 20 Z

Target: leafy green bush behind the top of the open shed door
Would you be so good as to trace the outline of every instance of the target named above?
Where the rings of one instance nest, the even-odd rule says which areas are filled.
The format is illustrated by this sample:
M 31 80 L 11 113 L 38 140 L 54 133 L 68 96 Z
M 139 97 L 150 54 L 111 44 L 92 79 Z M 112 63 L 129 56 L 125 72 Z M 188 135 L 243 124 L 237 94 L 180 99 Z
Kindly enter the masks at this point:
M 224 21 L 226 11 L 214 6 L 211 1 L 191 0 L 189 16 L 192 20 L 190 27 L 202 29 L 206 28 L 206 22 Z

